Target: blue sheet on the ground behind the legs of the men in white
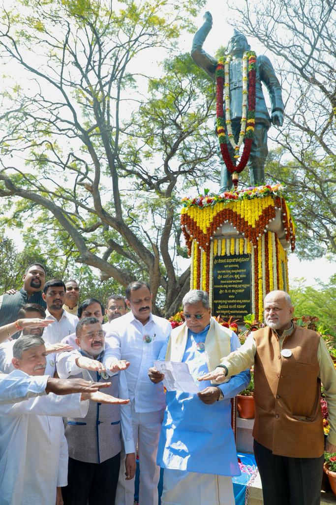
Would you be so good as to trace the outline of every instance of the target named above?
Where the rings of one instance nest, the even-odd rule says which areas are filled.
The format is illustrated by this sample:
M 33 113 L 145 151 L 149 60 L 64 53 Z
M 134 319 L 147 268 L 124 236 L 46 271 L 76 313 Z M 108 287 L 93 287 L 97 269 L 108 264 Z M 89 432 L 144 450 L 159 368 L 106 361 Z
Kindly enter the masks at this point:
M 240 460 L 240 469 L 241 475 L 239 477 L 233 477 L 233 492 L 235 495 L 236 505 L 244 505 L 245 504 L 245 493 L 246 486 L 252 477 L 253 473 L 256 471 L 256 463 L 253 454 L 243 454 L 242 452 L 237 453 L 237 456 Z M 162 484 L 163 484 L 163 468 L 161 468 L 160 472 L 160 481 L 158 485 L 159 490 L 159 505 L 160 505 L 160 497 L 162 494 Z M 136 473 L 136 492 L 134 499 L 136 502 L 139 500 L 139 461 L 137 461 L 137 473 Z

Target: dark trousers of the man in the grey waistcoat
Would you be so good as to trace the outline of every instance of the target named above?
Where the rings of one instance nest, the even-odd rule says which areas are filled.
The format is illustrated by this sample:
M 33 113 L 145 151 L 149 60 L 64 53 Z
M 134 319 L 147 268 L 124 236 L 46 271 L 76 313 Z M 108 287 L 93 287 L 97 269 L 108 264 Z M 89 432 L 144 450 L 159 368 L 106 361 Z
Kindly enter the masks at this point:
M 69 458 L 68 486 L 62 487 L 64 505 L 114 505 L 120 452 L 103 463 Z

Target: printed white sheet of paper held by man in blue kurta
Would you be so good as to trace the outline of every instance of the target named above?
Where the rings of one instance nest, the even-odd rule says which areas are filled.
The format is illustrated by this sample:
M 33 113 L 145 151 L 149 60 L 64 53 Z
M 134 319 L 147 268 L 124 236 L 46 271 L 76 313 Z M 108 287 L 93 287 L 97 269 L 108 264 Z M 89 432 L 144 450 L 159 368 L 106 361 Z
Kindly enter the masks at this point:
M 198 386 L 189 372 L 186 363 L 175 363 L 173 361 L 154 361 L 155 368 L 165 374 L 163 385 L 167 391 L 183 391 L 185 393 L 196 394 L 199 391 Z

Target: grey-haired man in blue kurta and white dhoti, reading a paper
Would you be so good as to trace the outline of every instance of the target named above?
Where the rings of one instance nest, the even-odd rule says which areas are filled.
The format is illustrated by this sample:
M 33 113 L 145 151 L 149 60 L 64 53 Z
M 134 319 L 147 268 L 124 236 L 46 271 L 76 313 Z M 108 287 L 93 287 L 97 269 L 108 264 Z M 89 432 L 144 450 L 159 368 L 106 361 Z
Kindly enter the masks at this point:
M 185 323 L 174 328 L 159 360 L 187 363 L 194 379 L 218 357 L 240 347 L 237 335 L 211 317 L 206 291 L 183 298 Z M 164 375 L 150 368 L 154 383 Z M 167 391 L 157 463 L 164 471 L 162 505 L 233 505 L 231 477 L 240 475 L 231 429 L 231 398 L 250 381 L 246 370 L 218 386 L 202 382 L 197 394 Z M 224 456 L 225 455 L 225 456 Z

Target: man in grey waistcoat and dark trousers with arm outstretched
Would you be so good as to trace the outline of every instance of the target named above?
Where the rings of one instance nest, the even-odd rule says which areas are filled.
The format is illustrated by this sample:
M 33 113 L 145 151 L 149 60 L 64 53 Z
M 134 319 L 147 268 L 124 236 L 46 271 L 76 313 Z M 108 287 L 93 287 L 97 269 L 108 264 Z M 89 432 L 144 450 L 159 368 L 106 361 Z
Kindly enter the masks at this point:
M 67 353 L 68 360 L 59 362 L 61 378 L 82 377 L 94 382 L 112 384 L 105 393 L 127 398 L 124 372 L 106 370 L 105 332 L 95 317 L 86 317 L 76 327 L 78 350 Z M 75 356 L 76 355 L 76 356 Z M 75 358 L 75 359 L 74 359 Z M 127 411 L 128 409 L 128 411 Z M 64 505 L 100 505 L 114 503 L 120 468 L 121 436 L 126 451 L 125 478 L 136 471 L 135 444 L 129 406 L 92 403 L 84 419 L 68 418 L 65 436 L 69 446 L 68 486 L 62 488 Z

